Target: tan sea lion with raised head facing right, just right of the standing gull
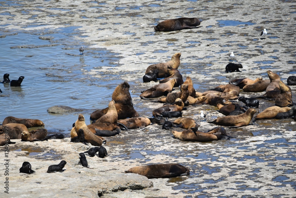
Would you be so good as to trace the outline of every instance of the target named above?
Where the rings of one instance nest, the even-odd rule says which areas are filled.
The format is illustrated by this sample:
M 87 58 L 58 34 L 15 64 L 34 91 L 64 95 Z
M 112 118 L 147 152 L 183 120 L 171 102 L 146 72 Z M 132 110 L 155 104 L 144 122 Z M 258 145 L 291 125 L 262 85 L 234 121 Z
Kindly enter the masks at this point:
M 243 127 L 247 126 L 250 124 L 254 114 L 257 111 L 253 108 L 249 108 L 246 112 L 243 114 L 239 114 L 237 116 L 225 116 L 225 117 L 218 117 L 212 122 L 212 124 L 218 124 L 226 127 L 231 127 L 231 128 L 237 128 L 237 127 Z

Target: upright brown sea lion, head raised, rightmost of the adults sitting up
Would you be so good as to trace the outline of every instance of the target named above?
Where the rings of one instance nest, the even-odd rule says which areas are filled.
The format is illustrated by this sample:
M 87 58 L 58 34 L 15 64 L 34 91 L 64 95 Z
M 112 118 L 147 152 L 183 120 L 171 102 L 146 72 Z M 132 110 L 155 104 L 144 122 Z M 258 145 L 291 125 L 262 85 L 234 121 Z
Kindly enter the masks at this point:
M 285 106 L 292 106 L 292 91 L 291 88 L 288 85 L 285 85 L 282 81 L 279 82 L 279 87 L 281 90 L 281 93 L 276 96 L 275 104 L 279 107 L 285 107 Z

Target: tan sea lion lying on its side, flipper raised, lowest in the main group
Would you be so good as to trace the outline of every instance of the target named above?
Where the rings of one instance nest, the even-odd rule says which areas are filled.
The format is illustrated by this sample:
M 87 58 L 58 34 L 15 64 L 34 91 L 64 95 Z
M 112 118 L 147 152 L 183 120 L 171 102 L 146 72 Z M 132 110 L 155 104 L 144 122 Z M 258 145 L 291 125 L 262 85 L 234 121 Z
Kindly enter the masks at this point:
M 198 131 L 196 128 L 190 128 L 182 132 L 172 131 L 173 136 L 182 141 L 190 142 L 211 142 L 214 140 L 229 140 L 230 137 L 226 135 L 225 129 L 220 127 L 221 132 L 211 133 Z M 219 134 L 219 135 L 218 135 Z

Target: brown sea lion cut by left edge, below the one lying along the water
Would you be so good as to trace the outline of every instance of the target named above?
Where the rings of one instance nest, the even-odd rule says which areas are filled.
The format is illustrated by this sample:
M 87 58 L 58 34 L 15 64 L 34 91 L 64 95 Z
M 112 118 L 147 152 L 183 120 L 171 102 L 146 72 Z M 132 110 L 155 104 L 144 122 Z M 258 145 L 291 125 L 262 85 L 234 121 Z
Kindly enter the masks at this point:
M 24 124 L 9 123 L 0 125 L 0 134 L 8 131 L 10 139 L 20 139 L 23 131 L 28 131 Z

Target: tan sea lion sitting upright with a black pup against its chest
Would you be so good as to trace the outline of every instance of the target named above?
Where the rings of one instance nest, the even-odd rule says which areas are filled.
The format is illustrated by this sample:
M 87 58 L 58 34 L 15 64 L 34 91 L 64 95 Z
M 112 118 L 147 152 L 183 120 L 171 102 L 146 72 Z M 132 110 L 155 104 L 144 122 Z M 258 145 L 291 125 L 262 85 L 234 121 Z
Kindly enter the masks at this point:
M 82 114 L 79 114 L 78 119 L 75 122 L 76 133 L 78 133 L 79 129 L 83 129 L 84 140 L 91 143 L 93 146 L 101 146 L 103 141 L 106 142 L 104 138 L 94 135 L 94 133 L 89 130 L 85 124 L 85 119 Z

